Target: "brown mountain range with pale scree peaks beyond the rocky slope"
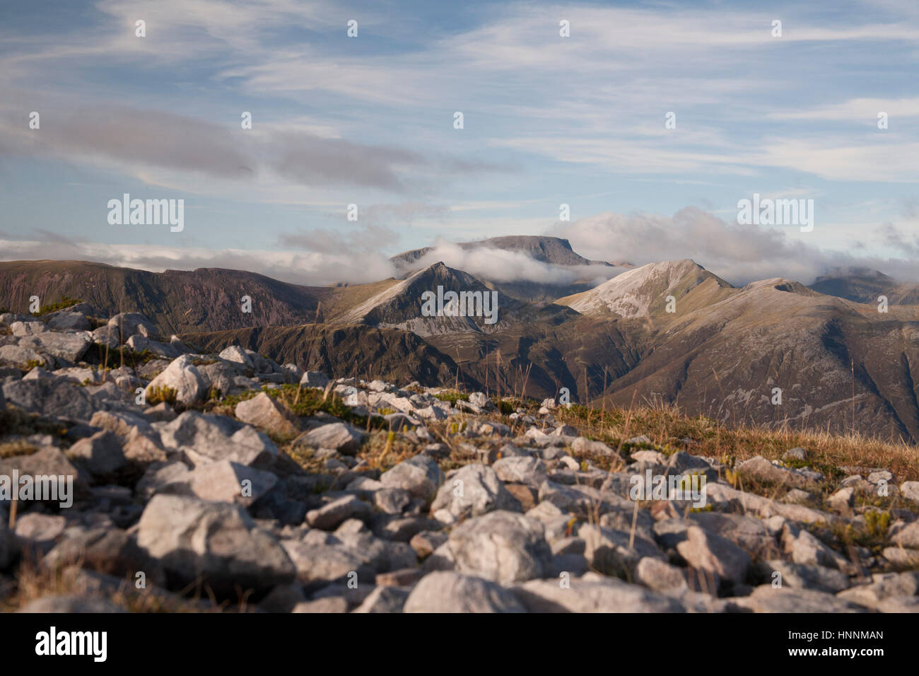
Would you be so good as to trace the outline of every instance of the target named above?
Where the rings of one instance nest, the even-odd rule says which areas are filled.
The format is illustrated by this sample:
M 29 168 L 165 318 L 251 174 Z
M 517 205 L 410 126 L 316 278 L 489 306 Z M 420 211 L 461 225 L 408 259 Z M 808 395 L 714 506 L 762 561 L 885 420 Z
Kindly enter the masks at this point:
M 82 261 L 0 262 L 0 308 L 64 297 L 103 315 L 136 311 L 203 351 L 239 344 L 335 376 L 459 383 L 598 406 L 676 405 L 732 424 L 857 430 L 919 441 L 919 292 L 879 272 L 837 269 L 810 287 L 735 287 L 692 260 L 591 261 L 555 237 L 460 245 L 547 266 L 607 269 L 607 281 L 488 279 L 393 257 L 399 278 L 310 287 L 242 270 L 153 273 Z M 616 274 L 619 269 L 625 271 Z M 427 316 L 422 294 L 494 292 L 482 316 Z M 553 295 L 554 294 L 554 295 Z M 879 312 L 878 295 L 887 295 Z M 251 313 L 242 311 L 243 297 Z

